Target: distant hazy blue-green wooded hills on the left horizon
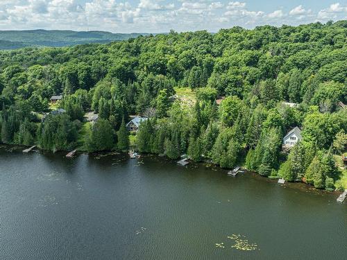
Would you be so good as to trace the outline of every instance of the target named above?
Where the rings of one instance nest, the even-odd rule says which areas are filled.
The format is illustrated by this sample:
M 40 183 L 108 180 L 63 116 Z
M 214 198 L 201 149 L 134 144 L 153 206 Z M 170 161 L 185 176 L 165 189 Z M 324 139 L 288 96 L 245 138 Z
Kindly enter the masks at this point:
M 0 31 L 0 49 L 25 46 L 72 46 L 88 43 L 108 43 L 135 38 L 149 33 L 109 33 L 103 31 Z

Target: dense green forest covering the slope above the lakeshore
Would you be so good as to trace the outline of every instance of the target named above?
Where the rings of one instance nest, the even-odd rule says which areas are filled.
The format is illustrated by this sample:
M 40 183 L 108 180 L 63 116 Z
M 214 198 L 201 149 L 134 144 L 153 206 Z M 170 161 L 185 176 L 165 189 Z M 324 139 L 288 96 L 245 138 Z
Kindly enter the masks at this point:
M 1 140 L 53 151 L 128 150 L 125 123 L 141 114 L 150 118 L 135 137 L 141 153 L 188 154 L 318 189 L 347 188 L 337 166 L 347 143 L 339 105 L 347 98 L 346 39 L 347 21 L 337 21 L 1 51 Z M 53 94 L 63 94 L 55 107 L 67 113 L 41 122 Z M 94 125 L 83 121 L 90 110 L 99 114 Z M 296 126 L 303 139 L 282 153 L 282 138 Z

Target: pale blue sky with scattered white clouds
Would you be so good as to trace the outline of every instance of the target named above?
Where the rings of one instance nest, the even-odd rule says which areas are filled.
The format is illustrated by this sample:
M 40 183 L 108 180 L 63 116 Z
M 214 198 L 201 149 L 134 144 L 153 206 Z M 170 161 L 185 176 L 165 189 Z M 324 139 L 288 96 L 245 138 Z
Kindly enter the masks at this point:
M 347 0 L 0 0 L 0 30 L 164 33 L 347 19 Z

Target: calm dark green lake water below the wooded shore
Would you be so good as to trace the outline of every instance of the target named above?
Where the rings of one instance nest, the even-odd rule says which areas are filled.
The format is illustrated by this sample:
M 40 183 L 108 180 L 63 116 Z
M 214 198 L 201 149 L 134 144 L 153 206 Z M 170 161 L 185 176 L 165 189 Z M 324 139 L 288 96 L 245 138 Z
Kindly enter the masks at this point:
M 64 156 L 0 148 L 0 259 L 346 259 L 338 193 L 158 157 Z

